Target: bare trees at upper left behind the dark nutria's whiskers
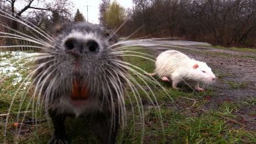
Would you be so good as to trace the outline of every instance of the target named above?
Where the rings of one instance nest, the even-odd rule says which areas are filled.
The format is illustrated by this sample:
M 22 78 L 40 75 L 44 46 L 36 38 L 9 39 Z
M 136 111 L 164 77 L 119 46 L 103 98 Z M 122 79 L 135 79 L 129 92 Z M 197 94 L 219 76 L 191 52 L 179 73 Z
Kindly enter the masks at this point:
M 19 9 L 16 9 L 16 5 L 20 5 Z M 54 2 L 0 0 L 0 50 L 39 50 L 41 45 L 34 43 L 35 39 L 37 42 L 40 39 L 45 39 L 43 36 L 45 34 L 42 31 L 39 31 L 41 33 L 39 34 L 29 26 L 39 27 L 52 35 L 55 26 L 65 22 L 85 21 L 83 14 L 78 9 L 75 16 L 72 16 L 72 11 L 74 11 L 72 9 L 70 0 L 56 0 Z M 21 24 L 18 22 L 19 20 L 27 25 Z M 26 35 L 35 39 L 28 39 Z

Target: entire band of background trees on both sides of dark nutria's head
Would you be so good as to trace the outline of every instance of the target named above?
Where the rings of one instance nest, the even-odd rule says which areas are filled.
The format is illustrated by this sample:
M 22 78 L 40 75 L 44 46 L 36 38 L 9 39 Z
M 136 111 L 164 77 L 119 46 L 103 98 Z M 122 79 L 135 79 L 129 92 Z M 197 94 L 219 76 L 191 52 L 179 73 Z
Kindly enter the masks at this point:
M 31 3 L 36 4 L 35 0 L 22 1 L 24 7 L 18 10 L 14 7 L 18 5 L 17 1 L 0 0 L 0 9 L 50 32 L 56 24 L 85 20 L 79 10 L 72 16 L 74 9 L 70 0 L 39 1 L 41 4 L 34 6 Z M 125 10 L 116 1 L 102 0 L 100 25 L 117 29 L 124 24 L 119 35 L 129 36 L 137 31 L 133 38 L 181 37 L 213 45 L 256 47 L 255 0 L 133 0 L 133 3 L 132 9 Z M 28 34 L 32 32 L 28 27 L 0 16 L 0 31 L 13 33 L 10 28 Z M 0 37 L 0 45 L 12 42 L 7 40 Z

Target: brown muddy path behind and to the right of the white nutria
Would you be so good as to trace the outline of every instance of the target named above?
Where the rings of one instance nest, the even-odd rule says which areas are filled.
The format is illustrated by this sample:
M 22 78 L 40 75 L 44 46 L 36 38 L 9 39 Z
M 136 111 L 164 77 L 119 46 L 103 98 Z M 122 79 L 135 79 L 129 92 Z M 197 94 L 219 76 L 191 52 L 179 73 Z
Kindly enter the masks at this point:
M 207 43 L 150 41 L 146 44 L 155 51 L 155 56 L 173 49 L 206 62 L 217 76 L 217 81 L 211 86 L 213 96 L 207 97 L 209 103 L 203 105 L 203 111 L 217 109 L 225 101 L 235 103 L 239 109 L 233 112 L 236 115 L 234 120 L 244 124 L 247 130 L 256 130 L 256 105 L 244 105 L 246 99 L 256 98 L 256 53 L 211 48 Z

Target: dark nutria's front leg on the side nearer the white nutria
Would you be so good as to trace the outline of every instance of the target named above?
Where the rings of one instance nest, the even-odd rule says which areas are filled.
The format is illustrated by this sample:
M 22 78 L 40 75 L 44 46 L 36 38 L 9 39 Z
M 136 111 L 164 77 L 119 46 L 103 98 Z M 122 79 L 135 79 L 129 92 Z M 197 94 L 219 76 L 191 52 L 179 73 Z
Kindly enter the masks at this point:
M 116 135 L 119 128 L 119 115 L 117 113 L 114 120 L 112 120 L 111 115 L 106 115 L 105 113 L 98 113 L 93 117 L 92 129 L 94 134 L 100 139 L 100 143 L 116 143 Z

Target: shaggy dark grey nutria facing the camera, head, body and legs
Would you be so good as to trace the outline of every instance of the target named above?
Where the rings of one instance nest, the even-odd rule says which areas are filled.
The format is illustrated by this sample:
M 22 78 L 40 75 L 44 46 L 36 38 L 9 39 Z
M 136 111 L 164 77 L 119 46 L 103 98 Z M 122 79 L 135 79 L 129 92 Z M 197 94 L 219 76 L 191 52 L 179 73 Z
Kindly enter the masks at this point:
M 68 143 L 66 117 L 87 117 L 102 143 L 115 143 L 123 118 L 125 69 L 111 46 L 117 42 L 106 29 L 88 23 L 66 24 L 54 34 L 45 58 L 37 60 L 34 85 L 54 125 L 49 143 Z M 87 97 L 72 98 L 74 82 Z

